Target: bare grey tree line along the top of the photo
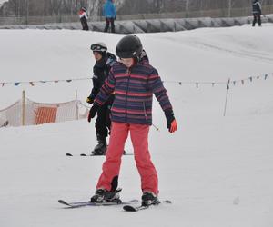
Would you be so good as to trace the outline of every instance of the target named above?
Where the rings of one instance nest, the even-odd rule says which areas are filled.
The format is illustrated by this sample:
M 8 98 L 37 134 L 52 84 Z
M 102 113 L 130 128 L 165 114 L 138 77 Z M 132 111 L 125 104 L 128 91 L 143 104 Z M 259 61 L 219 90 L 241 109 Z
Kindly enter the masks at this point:
M 89 15 L 101 15 L 105 0 L 9 0 L 0 8 L 1 16 L 76 15 L 86 6 Z M 232 9 L 251 6 L 252 0 L 115 0 L 117 15 Z M 261 0 L 273 5 L 273 0 Z

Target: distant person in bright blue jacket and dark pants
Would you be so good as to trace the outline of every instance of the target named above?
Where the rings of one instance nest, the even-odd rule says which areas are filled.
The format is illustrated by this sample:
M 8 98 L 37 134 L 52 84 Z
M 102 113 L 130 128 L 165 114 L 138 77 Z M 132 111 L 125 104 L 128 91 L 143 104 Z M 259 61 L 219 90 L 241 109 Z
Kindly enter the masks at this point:
M 115 20 L 116 20 L 116 7 L 114 0 L 106 0 L 103 7 L 103 15 L 106 17 L 105 33 L 108 32 L 109 25 L 111 24 L 111 33 L 115 33 Z

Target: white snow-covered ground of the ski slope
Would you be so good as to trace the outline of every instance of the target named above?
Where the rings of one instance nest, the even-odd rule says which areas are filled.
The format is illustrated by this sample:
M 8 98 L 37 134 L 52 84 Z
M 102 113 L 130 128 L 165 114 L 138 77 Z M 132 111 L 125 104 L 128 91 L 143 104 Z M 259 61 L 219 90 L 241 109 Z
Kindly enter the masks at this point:
M 62 209 L 58 199 L 86 201 L 94 193 L 104 157 L 65 156 L 90 152 L 96 144 L 94 122 L 0 128 L 1 226 L 273 226 L 272 28 L 245 25 L 138 35 L 162 79 L 175 82 L 165 85 L 177 133 L 167 133 L 157 102 L 154 124 L 160 131 L 150 131 L 159 196 L 172 205 L 137 213 L 121 207 Z M 90 44 L 103 41 L 115 52 L 122 36 L 1 30 L 0 83 L 91 77 Z M 250 76 L 255 76 L 252 82 L 241 83 Z M 228 78 L 238 81 L 230 84 L 224 117 L 226 84 L 197 88 L 195 83 Z M 30 99 L 51 103 L 74 99 L 75 89 L 84 102 L 90 87 L 89 80 L 5 84 L 0 86 L 0 109 L 19 99 L 23 89 Z M 129 140 L 126 151 L 133 152 Z M 133 156 L 123 158 L 119 184 L 123 200 L 140 198 Z

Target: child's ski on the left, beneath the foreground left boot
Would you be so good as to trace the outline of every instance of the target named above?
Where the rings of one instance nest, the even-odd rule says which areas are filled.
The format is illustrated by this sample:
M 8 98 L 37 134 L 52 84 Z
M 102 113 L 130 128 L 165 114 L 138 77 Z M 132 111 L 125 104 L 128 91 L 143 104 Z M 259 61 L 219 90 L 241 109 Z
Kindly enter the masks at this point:
M 64 200 L 58 200 L 59 203 L 66 206 L 66 208 L 80 208 L 86 206 L 116 206 L 116 205 L 130 205 L 138 200 L 131 200 L 127 202 L 66 202 Z

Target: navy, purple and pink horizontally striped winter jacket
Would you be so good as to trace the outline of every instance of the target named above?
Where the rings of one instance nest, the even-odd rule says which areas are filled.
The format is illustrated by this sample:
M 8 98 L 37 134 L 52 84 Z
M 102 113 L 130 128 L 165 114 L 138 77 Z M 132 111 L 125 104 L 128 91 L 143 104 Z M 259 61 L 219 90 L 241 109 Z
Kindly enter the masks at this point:
M 153 94 L 163 111 L 172 110 L 157 70 L 147 60 L 141 60 L 129 69 L 116 62 L 94 104 L 101 106 L 112 93 L 115 93 L 111 108 L 113 122 L 151 125 Z

